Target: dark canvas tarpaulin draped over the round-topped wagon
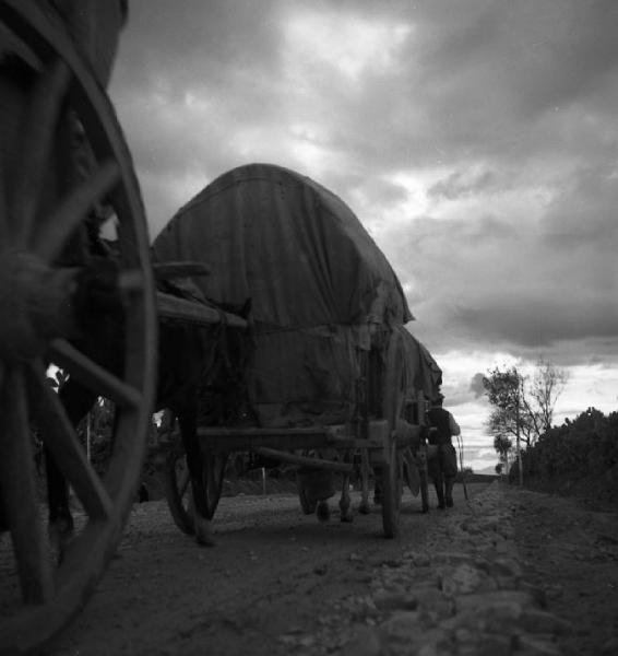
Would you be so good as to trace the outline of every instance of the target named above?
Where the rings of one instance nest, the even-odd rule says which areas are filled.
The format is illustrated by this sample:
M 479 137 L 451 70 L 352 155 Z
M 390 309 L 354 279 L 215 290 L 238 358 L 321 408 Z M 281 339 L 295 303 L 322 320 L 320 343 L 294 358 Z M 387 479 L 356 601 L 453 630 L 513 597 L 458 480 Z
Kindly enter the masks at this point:
M 193 281 L 207 298 L 237 306 L 251 298 L 249 400 L 262 425 L 345 421 L 357 349 L 413 318 L 387 258 L 349 208 L 278 166 L 251 164 L 215 179 L 180 209 L 153 251 L 155 261 L 209 263 L 212 273 Z

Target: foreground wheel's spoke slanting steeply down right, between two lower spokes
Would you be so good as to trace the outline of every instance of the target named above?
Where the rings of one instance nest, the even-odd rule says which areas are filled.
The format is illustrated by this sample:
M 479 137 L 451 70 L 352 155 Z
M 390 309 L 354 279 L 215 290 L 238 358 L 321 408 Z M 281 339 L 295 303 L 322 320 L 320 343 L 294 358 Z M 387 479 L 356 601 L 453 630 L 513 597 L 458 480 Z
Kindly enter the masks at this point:
M 35 411 L 45 446 L 54 454 L 56 465 L 73 487 L 88 517 L 110 517 L 111 499 L 88 462 L 58 395 L 46 380 L 43 366 L 32 367 L 29 374 L 29 391 L 36 402 Z

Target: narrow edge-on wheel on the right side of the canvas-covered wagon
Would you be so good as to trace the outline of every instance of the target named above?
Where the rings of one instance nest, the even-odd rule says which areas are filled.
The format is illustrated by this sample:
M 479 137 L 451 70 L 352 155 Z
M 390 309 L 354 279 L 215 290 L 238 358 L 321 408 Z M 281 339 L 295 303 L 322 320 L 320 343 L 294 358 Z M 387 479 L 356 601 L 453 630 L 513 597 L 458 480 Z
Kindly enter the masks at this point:
M 382 452 L 382 525 L 387 538 L 394 538 L 397 535 L 403 491 L 403 459 L 401 450 L 397 449 L 395 435 L 396 420 L 402 406 L 402 338 L 395 331 L 389 340 L 382 386 L 382 415 L 389 422 Z

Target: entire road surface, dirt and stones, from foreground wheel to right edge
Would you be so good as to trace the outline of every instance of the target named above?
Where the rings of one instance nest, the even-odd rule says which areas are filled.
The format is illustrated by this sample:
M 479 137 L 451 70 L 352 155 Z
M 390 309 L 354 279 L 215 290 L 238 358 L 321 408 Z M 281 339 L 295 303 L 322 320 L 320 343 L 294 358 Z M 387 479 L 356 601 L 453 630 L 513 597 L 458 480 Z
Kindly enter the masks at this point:
M 341 524 L 332 504 L 320 524 L 292 494 L 224 497 L 212 549 L 165 502 L 136 505 L 90 604 L 40 654 L 618 654 L 616 512 L 468 491 L 429 515 L 406 493 L 395 540 L 379 512 Z

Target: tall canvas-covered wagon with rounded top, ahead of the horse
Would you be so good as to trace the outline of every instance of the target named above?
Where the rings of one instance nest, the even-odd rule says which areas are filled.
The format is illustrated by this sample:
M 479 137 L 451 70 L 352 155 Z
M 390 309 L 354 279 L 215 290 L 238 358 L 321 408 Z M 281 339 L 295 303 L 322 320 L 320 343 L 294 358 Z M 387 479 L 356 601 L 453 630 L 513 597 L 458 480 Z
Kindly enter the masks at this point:
M 439 384 L 439 368 L 405 329 L 413 317 L 401 284 L 352 210 L 298 173 L 245 165 L 178 211 L 153 258 L 209 262 L 211 274 L 192 281 L 197 296 L 251 304 L 243 394 L 230 399 L 241 412 L 224 401 L 199 429 L 211 512 L 231 452 L 292 462 L 301 475 L 349 473 L 366 453 L 383 484 L 384 534 L 394 536 L 402 453 L 424 419 L 417 393 Z M 301 488 L 304 506 L 311 501 Z

